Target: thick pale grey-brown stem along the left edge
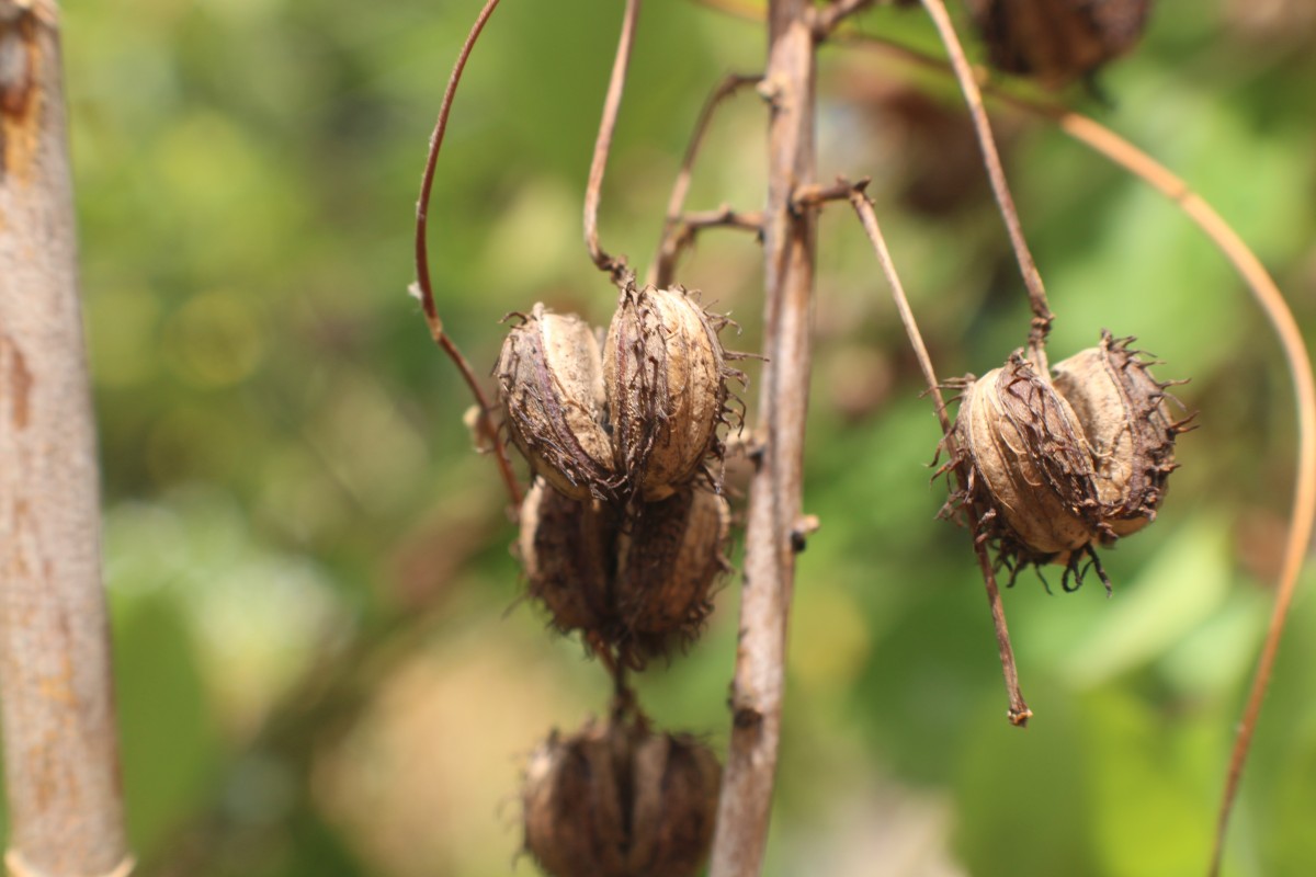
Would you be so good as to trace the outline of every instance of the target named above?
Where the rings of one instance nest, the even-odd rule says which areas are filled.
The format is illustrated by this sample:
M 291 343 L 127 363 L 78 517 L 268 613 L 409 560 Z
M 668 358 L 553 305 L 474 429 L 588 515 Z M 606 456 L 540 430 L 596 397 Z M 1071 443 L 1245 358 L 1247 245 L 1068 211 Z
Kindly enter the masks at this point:
M 0 686 L 16 877 L 126 874 L 54 0 L 0 0 Z

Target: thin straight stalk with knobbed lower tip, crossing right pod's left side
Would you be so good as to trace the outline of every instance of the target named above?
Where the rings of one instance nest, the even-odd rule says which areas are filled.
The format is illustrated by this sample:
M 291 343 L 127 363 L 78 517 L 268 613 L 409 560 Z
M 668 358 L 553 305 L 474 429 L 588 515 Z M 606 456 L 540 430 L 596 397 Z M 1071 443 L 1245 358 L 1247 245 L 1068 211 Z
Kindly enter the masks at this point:
M 923 333 L 919 331 L 919 323 L 913 318 L 913 312 L 909 309 L 909 300 L 904 293 L 904 284 L 900 283 L 900 275 L 896 273 L 895 262 L 891 259 L 891 251 L 887 249 L 887 242 L 882 234 L 882 227 L 878 225 L 878 217 L 873 212 L 873 204 L 869 202 L 867 196 L 863 193 L 867 181 L 863 180 L 850 187 L 850 204 L 854 205 L 855 212 L 859 214 L 859 221 L 863 224 L 863 230 L 869 234 L 869 241 L 873 243 L 873 250 L 878 256 L 878 262 L 882 263 L 882 271 L 887 276 L 887 283 L 891 285 L 891 295 L 896 302 L 896 310 L 900 312 L 900 322 L 905 327 L 905 334 L 909 337 L 909 344 L 913 347 L 915 356 L 919 359 L 919 367 L 923 369 L 923 377 L 928 381 L 928 392 L 932 393 L 933 405 L 937 409 L 937 421 L 941 423 L 941 433 L 946 442 L 946 452 L 950 459 L 957 459 L 955 454 L 955 437 L 950 431 L 950 417 L 946 414 L 946 402 L 941 397 L 941 384 L 937 380 L 937 372 L 932 367 L 932 358 L 928 355 L 928 347 L 923 343 Z M 965 485 L 969 483 L 969 473 L 965 467 L 955 468 L 955 477 L 959 484 Z M 983 575 L 983 582 L 987 586 L 987 605 L 991 606 L 992 627 L 996 631 L 996 648 L 1000 652 L 1000 668 L 1005 677 L 1005 694 L 1009 698 L 1009 711 L 1007 713 L 1011 723 L 1024 727 L 1028 724 L 1028 719 L 1032 718 L 1033 711 L 1028 709 L 1028 703 L 1024 702 L 1024 694 L 1019 688 L 1019 669 L 1015 665 L 1015 650 L 1009 643 L 1009 628 L 1005 625 L 1005 605 L 1000 598 L 1000 588 L 996 584 L 996 572 L 992 568 L 991 560 L 987 556 L 987 544 L 979 538 L 979 525 L 982 519 L 982 510 L 970 508 L 969 518 L 969 533 L 973 538 L 974 554 L 978 556 L 978 567 Z

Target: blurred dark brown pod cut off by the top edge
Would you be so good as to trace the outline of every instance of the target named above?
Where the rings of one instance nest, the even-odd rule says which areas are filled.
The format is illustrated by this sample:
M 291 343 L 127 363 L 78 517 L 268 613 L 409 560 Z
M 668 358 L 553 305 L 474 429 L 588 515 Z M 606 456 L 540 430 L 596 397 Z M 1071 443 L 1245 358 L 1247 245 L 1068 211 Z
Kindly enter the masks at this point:
M 1132 49 L 1152 0 L 966 0 L 994 67 L 1065 85 Z

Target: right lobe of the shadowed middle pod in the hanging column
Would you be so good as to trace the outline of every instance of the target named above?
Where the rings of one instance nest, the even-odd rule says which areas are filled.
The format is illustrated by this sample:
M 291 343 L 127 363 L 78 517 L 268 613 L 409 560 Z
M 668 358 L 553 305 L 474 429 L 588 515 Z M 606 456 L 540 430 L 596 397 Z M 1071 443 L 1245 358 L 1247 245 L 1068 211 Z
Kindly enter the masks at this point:
M 638 508 L 617 539 L 617 613 L 636 643 L 666 651 L 692 638 L 712 611 L 709 592 L 726 571 L 730 506 L 704 488 L 686 488 Z

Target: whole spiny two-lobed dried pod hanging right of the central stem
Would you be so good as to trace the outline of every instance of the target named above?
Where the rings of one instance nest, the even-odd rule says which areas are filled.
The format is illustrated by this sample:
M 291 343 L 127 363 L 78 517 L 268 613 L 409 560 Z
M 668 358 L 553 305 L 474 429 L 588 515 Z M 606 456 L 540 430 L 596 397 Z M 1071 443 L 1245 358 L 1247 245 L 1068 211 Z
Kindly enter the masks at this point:
M 1166 388 L 1175 381 L 1157 381 L 1132 341 L 1103 333 L 1054 375 L 1016 351 L 965 381 L 944 467 L 965 477 L 948 508 L 976 515 L 979 538 L 1011 571 L 1059 564 L 1073 590 L 1087 559 L 1109 590 L 1095 546 L 1155 518 L 1191 418 L 1171 417 Z

